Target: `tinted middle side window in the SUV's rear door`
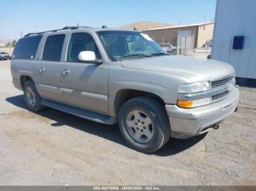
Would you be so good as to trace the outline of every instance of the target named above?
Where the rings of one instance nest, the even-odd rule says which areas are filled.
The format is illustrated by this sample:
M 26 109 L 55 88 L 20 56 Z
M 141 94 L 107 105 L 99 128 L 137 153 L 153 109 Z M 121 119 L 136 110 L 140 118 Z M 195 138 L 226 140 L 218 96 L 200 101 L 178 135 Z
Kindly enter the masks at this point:
M 64 39 L 64 34 L 48 36 L 45 42 L 44 50 L 42 52 L 42 60 L 60 61 Z

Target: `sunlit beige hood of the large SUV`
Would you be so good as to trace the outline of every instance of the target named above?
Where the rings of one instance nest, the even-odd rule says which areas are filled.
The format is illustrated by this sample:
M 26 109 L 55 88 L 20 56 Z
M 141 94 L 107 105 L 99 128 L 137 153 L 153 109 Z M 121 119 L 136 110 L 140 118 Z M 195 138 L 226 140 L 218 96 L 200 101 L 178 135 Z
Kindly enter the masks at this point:
M 234 75 L 234 69 L 227 63 L 209 59 L 183 56 L 156 56 L 121 61 L 124 68 L 158 71 L 178 75 L 191 82 L 215 80 Z

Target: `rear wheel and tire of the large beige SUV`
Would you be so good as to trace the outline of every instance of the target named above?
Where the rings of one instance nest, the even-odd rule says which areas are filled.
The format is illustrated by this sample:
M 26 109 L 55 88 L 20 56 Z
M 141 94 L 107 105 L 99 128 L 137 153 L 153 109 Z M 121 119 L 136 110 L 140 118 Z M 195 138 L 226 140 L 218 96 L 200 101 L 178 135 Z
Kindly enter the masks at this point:
M 37 89 L 34 86 L 34 82 L 26 81 L 23 85 L 23 95 L 26 102 L 26 106 L 28 106 L 29 111 L 31 112 L 39 112 L 44 109 L 45 106 L 42 106 L 41 100 L 42 98 L 37 93 Z

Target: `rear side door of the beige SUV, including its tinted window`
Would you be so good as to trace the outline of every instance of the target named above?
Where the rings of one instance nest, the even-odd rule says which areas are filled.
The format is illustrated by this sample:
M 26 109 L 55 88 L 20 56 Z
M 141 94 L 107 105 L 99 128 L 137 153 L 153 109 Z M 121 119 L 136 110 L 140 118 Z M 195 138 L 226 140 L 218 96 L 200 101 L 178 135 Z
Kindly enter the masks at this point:
M 42 58 L 37 62 L 38 91 L 42 98 L 63 101 L 60 87 L 64 39 L 65 34 L 48 36 L 42 49 Z

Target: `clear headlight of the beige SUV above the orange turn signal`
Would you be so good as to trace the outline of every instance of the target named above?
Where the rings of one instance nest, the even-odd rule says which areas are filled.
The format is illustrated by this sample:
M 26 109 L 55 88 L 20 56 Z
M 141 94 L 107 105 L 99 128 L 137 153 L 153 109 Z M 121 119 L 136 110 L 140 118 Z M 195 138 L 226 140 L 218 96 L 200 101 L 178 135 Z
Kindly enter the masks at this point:
M 210 82 L 197 82 L 194 84 L 181 85 L 178 93 L 198 93 L 210 90 Z

